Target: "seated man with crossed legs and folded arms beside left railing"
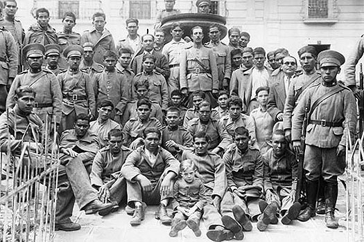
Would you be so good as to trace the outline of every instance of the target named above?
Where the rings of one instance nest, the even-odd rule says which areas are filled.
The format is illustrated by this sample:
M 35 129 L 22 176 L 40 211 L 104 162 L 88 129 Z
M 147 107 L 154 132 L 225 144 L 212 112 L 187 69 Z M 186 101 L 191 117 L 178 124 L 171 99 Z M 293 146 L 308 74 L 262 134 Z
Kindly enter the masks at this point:
M 98 212 L 101 216 L 110 213 L 111 203 L 102 203 L 97 191 L 89 181 L 89 171 L 100 144 L 96 134 L 89 132 L 89 117 L 82 113 L 76 116 L 74 129 L 60 137 L 60 160 L 58 170 L 58 193 L 55 207 L 55 230 L 79 230 L 80 225 L 71 222 L 76 201 L 86 214 Z

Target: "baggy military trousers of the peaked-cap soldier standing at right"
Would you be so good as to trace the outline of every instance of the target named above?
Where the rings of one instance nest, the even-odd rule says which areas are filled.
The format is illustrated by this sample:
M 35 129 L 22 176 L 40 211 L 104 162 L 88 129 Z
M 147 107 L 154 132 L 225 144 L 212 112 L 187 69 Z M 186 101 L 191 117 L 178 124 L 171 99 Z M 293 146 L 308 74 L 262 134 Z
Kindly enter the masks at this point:
M 306 145 L 304 151 L 304 170 L 306 179 L 319 180 L 320 176 L 327 182 L 336 182 L 337 177 L 344 173 L 345 156 L 336 156 L 337 147 L 320 148 Z

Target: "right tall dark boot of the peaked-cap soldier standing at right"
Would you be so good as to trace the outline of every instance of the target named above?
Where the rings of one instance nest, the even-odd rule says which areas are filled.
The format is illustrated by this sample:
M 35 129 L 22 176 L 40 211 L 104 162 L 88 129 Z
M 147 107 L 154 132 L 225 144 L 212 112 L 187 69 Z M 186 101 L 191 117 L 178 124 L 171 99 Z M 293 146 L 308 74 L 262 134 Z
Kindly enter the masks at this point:
M 324 221 L 326 223 L 326 227 L 336 229 L 339 226 L 338 221 L 335 219 L 335 206 L 338 198 L 338 183 L 325 183 L 324 195 L 326 203 Z

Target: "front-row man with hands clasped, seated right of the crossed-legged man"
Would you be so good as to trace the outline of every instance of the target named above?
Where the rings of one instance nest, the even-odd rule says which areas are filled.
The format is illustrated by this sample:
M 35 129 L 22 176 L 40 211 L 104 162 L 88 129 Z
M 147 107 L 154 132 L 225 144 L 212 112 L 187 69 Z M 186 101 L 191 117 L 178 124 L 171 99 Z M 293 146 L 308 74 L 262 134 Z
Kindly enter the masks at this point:
M 120 129 L 111 129 L 107 140 L 109 145 L 96 153 L 89 178 L 92 187 L 98 189 L 100 200 L 111 202 L 114 205 L 111 212 L 115 212 L 121 200 L 126 198 L 125 178 L 120 170 L 130 149 L 122 145 L 123 133 Z

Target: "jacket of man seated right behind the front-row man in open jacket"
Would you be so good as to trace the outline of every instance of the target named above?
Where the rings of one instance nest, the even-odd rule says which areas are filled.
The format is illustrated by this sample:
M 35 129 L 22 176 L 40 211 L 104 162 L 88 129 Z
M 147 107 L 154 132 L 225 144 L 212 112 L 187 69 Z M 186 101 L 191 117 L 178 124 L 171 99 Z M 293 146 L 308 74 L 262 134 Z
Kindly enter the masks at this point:
M 156 118 L 148 118 L 146 122 L 141 122 L 139 118 L 130 118 L 123 128 L 123 145 L 129 147 L 131 142 L 143 137 L 144 129 L 157 127 L 162 131 L 162 124 Z

